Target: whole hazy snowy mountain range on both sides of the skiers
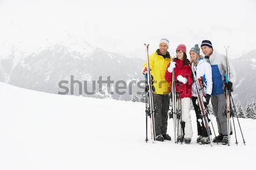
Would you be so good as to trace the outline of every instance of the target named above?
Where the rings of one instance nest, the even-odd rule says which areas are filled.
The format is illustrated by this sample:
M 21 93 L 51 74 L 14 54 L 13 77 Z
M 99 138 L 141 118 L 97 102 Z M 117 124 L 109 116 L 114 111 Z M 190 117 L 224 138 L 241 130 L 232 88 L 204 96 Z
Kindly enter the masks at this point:
M 6 45 L 11 45 L 6 44 Z M 44 91 L 57 94 L 63 91 L 59 87 L 61 80 L 68 80 L 71 83 L 71 75 L 75 80 L 87 81 L 89 92 L 95 92 L 92 97 L 110 97 L 113 99 L 131 100 L 132 94 L 142 91 L 135 84 L 132 85 L 132 92 L 125 95 L 98 93 L 98 86 L 93 90 L 93 80 L 111 80 L 117 82 L 123 80 L 127 83 L 135 80 L 143 80 L 141 66 L 143 59 L 125 57 L 120 54 L 106 52 L 96 46 L 90 45 L 81 37 L 68 35 L 60 43 L 55 43 L 46 48 L 37 49 L 28 53 L 23 51 L 22 44 L 13 45 L 9 56 L 0 54 L 0 81 L 13 84 L 18 87 L 28 88 L 37 91 Z M 135 50 L 138 53 L 138 50 Z M 144 54 L 143 54 L 144 55 Z M 255 71 L 256 71 L 256 50 L 246 53 L 242 57 L 232 60 L 237 72 L 237 83 L 235 85 L 234 99 L 240 100 L 243 107 L 251 98 L 256 98 Z M 84 85 L 84 84 L 82 84 Z M 114 84 L 110 87 L 115 88 Z M 104 86 L 106 91 L 106 86 Z M 84 87 L 82 88 L 84 96 Z M 71 94 L 69 89 L 68 94 Z M 74 94 L 79 95 L 79 87 L 75 85 Z

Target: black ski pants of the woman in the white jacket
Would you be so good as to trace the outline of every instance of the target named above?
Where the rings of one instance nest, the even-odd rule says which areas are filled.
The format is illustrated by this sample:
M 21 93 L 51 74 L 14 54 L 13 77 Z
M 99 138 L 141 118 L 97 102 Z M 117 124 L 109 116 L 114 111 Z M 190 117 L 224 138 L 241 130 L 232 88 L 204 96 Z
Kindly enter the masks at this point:
M 207 130 L 205 129 L 203 118 L 201 116 L 200 107 L 199 107 L 199 105 L 196 104 L 196 100 L 197 100 L 197 97 L 192 96 L 192 103 L 193 103 L 193 107 L 196 112 L 197 134 L 201 135 L 203 137 L 208 137 Z M 199 120 L 201 120 L 201 124 L 200 124 Z

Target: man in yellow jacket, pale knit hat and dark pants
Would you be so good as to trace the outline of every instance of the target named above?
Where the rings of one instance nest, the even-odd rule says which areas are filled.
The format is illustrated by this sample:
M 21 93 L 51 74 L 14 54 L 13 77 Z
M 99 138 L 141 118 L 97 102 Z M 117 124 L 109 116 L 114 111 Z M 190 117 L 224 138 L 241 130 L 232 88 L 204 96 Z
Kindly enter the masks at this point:
M 166 82 L 165 74 L 167 66 L 172 58 L 167 51 L 169 41 L 161 39 L 159 49 L 149 56 L 151 75 L 153 76 L 154 89 L 153 100 L 155 107 L 155 135 L 156 141 L 171 141 L 171 137 L 167 134 L 167 120 L 169 110 L 170 83 Z M 147 63 L 144 63 L 142 74 L 147 73 Z

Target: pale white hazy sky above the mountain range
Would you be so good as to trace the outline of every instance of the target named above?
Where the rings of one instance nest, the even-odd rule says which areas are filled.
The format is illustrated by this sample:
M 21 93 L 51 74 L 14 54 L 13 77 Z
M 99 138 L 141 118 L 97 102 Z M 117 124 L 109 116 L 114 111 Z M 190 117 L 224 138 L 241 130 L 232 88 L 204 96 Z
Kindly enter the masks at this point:
M 0 54 L 10 44 L 24 50 L 54 44 L 67 33 L 102 49 L 144 57 L 162 37 L 170 52 L 189 50 L 209 39 L 213 48 L 239 56 L 256 49 L 256 1 L 3 1 L 0 0 Z M 6 47 L 7 45 L 7 47 Z

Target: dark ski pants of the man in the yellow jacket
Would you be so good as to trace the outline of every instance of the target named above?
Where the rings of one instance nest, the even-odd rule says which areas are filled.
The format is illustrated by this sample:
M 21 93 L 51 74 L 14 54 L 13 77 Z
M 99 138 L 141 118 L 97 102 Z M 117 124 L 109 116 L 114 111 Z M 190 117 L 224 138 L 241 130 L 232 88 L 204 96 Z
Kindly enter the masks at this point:
M 166 134 L 170 97 L 168 95 L 154 94 L 153 100 L 155 108 L 155 135 Z

